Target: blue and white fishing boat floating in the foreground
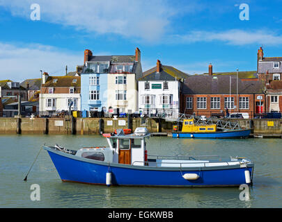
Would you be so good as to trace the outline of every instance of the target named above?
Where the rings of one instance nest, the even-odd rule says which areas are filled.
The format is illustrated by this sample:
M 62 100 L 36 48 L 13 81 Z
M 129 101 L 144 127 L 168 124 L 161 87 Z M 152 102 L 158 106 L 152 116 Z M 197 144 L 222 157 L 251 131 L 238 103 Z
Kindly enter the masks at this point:
M 250 185 L 253 162 L 244 157 L 214 160 L 215 156 L 148 155 L 146 128 L 134 133 L 104 134 L 108 147 L 70 150 L 43 146 L 49 153 L 61 180 L 96 185 L 230 187 Z M 172 147 L 173 148 L 173 147 Z M 150 158 L 148 158 L 150 157 Z M 207 158 L 208 157 L 208 158 Z

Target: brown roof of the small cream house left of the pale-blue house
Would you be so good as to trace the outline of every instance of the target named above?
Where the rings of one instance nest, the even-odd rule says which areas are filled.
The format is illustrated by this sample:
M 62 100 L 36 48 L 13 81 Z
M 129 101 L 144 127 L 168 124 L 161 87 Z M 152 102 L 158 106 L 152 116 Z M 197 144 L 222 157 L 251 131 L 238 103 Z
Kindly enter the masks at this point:
M 56 79 L 56 82 L 54 80 Z M 77 79 L 76 83 L 73 80 Z M 48 76 L 43 87 L 80 87 L 80 76 Z

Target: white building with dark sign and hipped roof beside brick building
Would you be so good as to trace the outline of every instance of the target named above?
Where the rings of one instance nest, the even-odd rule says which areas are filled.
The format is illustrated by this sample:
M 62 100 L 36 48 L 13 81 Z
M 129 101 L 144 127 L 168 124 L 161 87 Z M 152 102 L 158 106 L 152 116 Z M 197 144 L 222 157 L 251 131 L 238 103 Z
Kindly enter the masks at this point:
M 180 90 L 187 77 L 157 60 L 157 66 L 139 78 L 139 112 L 148 116 L 178 117 Z

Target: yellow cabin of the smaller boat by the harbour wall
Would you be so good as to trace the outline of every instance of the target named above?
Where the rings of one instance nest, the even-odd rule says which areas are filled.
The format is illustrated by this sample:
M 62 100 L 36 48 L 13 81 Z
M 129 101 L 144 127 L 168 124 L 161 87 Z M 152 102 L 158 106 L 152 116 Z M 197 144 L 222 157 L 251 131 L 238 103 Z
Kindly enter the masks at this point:
M 194 118 L 184 119 L 182 133 L 210 133 L 217 131 L 217 124 L 196 125 Z

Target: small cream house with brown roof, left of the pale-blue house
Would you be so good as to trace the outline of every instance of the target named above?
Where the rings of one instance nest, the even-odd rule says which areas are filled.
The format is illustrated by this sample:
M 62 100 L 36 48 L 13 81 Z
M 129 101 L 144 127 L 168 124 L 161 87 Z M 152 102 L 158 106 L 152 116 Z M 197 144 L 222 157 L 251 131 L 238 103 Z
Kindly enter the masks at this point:
M 39 96 L 40 114 L 81 110 L 80 76 L 49 76 L 42 74 Z

